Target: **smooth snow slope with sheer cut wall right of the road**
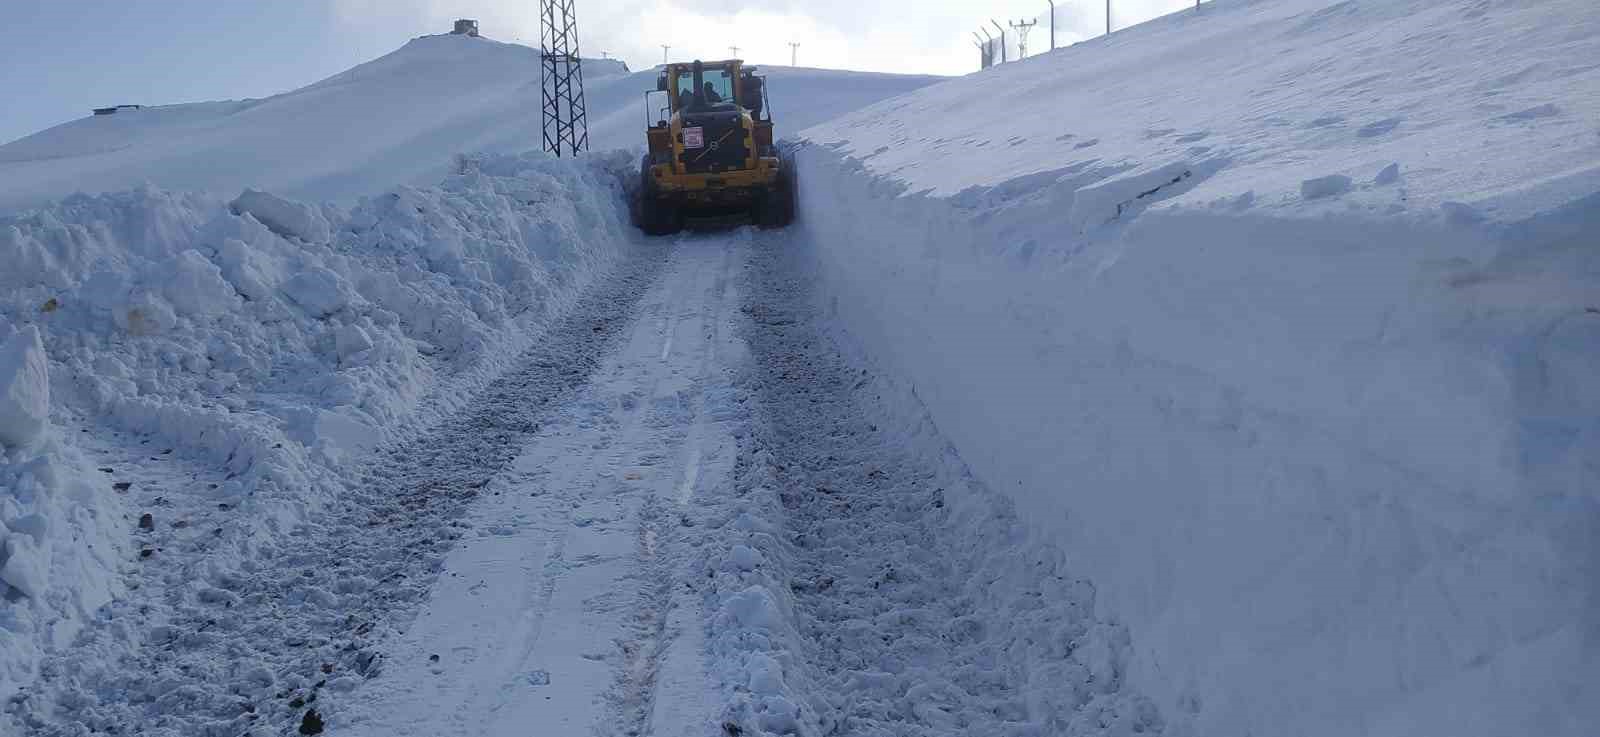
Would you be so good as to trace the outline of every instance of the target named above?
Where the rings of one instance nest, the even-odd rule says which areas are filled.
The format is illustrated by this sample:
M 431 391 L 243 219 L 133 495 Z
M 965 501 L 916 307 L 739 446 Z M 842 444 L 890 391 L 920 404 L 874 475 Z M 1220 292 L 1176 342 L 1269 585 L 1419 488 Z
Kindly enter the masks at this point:
M 1589 0 L 1218 0 L 803 131 L 800 229 L 1171 734 L 1589 735 L 1597 90 Z

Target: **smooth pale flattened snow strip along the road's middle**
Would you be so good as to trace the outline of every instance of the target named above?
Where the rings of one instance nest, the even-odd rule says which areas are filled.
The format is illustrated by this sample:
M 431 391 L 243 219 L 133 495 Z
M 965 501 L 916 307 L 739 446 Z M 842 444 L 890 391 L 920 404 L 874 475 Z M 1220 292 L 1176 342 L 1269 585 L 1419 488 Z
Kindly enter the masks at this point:
M 595 719 L 619 659 L 613 647 L 626 641 L 621 604 L 642 585 L 629 571 L 643 550 L 629 540 L 664 456 L 656 416 L 670 371 L 654 360 L 659 325 L 693 297 L 677 246 L 659 251 L 669 265 L 627 337 L 525 441 L 498 486 L 506 494 L 470 512 L 480 539 L 450 558 L 462 579 L 442 579 L 392 643 L 406 665 L 362 694 L 352 737 L 509 735 L 528 724 L 578 734 Z M 451 657 L 424 667 L 430 652 Z

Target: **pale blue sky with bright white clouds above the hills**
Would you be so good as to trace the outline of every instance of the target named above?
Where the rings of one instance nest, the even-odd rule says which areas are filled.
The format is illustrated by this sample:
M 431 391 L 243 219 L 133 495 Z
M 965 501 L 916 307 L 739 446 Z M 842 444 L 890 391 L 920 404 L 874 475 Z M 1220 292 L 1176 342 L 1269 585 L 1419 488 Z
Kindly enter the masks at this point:
M 1192 0 L 1112 0 L 1115 27 Z M 1098 35 L 1102 0 L 1056 0 L 1058 43 Z M 538 0 L 0 0 L 0 142 L 93 107 L 266 98 L 477 18 L 483 35 L 538 45 Z M 578 0 L 584 56 L 632 69 L 739 56 L 872 72 L 968 74 L 971 32 L 1046 18 L 1045 0 Z M 1050 48 L 1048 19 L 1029 53 Z M 992 32 L 992 27 L 990 27 Z M 1014 40 L 1014 37 L 1013 37 Z M 789 43 L 800 43 L 790 50 Z M 1013 45 L 1014 53 L 1014 45 Z

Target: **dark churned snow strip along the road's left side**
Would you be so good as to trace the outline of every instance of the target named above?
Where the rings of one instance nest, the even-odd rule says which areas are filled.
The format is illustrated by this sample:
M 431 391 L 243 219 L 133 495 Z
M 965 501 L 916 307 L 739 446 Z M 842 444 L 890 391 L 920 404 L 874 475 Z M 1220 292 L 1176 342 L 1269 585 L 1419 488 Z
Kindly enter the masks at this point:
M 466 505 L 598 368 L 664 261 L 640 249 L 621 264 L 472 404 L 374 452 L 294 542 L 253 542 L 243 571 L 202 558 L 165 601 L 109 604 L 8 711 L 38 735 L 187 737 L 278 734 L 336 710 L 330 694 L 381 671 L 374 644 L 426 600 Z

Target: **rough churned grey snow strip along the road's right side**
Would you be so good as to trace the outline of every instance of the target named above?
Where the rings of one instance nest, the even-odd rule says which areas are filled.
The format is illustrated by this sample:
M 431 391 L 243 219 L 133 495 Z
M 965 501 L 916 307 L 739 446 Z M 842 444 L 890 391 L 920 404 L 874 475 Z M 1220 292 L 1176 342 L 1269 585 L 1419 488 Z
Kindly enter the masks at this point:
M 816 329 L 792 248 L 752 249 L 741 508 L 712 657 L 728 734 L 1160 732 L 1126 630 L 1029 544 L 909 392 Z M 741 563 L 742 561 L 742 563 Z

